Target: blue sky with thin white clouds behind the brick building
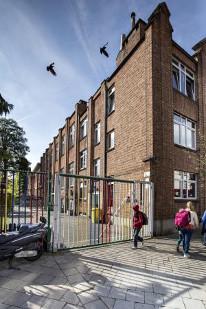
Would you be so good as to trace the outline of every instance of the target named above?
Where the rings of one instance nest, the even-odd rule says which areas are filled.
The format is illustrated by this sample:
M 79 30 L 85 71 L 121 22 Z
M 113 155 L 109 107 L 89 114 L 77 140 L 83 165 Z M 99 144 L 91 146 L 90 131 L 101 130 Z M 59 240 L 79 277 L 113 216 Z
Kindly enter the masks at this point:
M 25 130 L 32 168 L 74 111 L 116 67 L 130 14 L 148 20 L 157 0 L 0 0 L 0 93 Z M 206 0 L 168 0 L 173 39 L 189 54 L 206 36 Z M 108 42 L 109 58 L 100 54 Z M 57 76 L 46 67 L 55 62 Z

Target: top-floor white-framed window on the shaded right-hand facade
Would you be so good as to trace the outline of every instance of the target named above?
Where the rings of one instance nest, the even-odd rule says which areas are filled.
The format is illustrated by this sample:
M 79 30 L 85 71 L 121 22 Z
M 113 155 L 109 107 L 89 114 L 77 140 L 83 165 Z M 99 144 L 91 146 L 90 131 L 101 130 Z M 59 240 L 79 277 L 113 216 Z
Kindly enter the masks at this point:
M 188 98 L 195 99 L 194 73 L 176 59 L 172 59 L 173 87 L 178 89 Z

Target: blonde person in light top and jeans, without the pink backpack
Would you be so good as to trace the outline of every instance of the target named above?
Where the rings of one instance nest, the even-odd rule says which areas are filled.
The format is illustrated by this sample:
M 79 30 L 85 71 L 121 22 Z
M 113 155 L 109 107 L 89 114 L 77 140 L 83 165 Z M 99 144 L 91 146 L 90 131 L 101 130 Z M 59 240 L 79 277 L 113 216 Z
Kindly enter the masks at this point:
M 198 216 L 194 211 L 194 205 L 192 202 L 187 202 L 187 211 L 190 211 L 190 222 L 185 225 L 185 227 L 181 227 L 180 231 L 183 236 L 183 251 L 184 258 L 190 258 L 189 249 L 190 249 L 190 240 L 192 238 L 192 233 L 195 228 L 198 228 Z

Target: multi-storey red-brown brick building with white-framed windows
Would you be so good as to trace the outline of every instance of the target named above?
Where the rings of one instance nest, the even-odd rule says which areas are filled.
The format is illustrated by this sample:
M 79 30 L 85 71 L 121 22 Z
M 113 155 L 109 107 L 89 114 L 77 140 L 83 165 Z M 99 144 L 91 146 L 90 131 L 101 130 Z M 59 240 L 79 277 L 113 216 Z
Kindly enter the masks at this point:
M 41 157 L 41 170 L 155 183 L 155 233 L 174 229 L 174 214 L 206 205 L 190 155 L 206 133 L 206 38 L 194 56 L 172 39 L 165 3 L 121 37 L 117 69 L 88 102 L 80 100 Z M 185 152 L 187 150 L 187 152 Z M 201 184 L 203 186 L 201 186 Z

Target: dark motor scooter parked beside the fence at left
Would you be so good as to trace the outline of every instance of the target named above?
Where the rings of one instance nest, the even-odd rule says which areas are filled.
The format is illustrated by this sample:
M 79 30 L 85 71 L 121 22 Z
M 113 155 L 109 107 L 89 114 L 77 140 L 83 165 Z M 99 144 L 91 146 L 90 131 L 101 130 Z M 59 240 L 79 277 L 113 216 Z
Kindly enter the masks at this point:
M 13 258 L 25 258 L 36 261 L 43 253 L 42 240 L 47 234 L 45 217 L 40 217 L 41 223 L 36 225 L 21 225 L 19 231 L 0 235 L 0 260 L 9 259 L 12 268 Z

